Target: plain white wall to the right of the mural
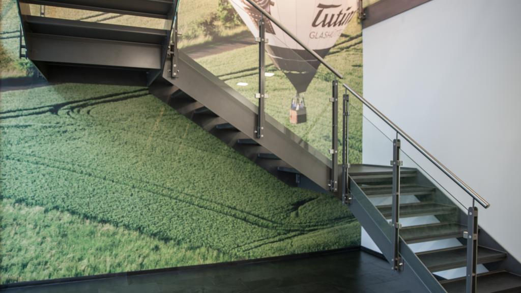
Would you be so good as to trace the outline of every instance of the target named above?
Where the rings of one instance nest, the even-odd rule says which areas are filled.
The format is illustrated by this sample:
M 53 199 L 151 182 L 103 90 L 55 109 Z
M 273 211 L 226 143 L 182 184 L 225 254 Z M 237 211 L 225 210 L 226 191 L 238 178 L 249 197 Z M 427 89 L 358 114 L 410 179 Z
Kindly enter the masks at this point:
M 432 0 L 364 29 L 363 39 L 364 97 L 491 203 L 480 225 L 521 260 L 521 1 Z M 382 137 L 364 121 L 364 163 L 389 164 Z

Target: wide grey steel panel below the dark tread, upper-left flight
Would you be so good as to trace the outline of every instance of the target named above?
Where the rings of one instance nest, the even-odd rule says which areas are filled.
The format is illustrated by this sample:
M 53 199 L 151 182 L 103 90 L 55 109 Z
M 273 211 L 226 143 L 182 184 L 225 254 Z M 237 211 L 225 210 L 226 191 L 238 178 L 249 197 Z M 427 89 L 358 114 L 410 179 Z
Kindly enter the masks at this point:
M 82 65 L 160 69 L 162 47 L 72 36 L 29 34 L 29 59 L 33 61 Z M 38 48 L 38 50 L 35 50 Z

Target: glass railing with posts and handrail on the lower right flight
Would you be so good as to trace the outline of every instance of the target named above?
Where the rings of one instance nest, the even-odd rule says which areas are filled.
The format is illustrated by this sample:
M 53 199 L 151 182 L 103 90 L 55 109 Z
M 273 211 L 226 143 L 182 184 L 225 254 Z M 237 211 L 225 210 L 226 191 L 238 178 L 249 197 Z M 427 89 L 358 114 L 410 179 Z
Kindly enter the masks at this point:
M 352 107 L 364 117 L 364 163 L 387 165 L 386 160 L 392 157 L 387 161 L 393 165 L 389 180 L 380 178 L 378 185 L 371 186 L 367 179 L 367 185 L 362 184 L 361 188 L 365 189 L 366 201 L 370 200 L 381 215 L 390 220 L 394 269 L 400 270 L 401 240 L 407 244 L 424 242 L 421 244 L 424 248 L 416 248 L 421 251 L 428 247 L 425 241 L 438 239 L 444 241 L 438 243 L 437 248 L 458 248 L 462 243 L 455 238 L 464 237 L 467 239 L 467 290 L 472 288 L 472 284 L 476 284 L 477 264 L 476 205 L 487 209 L 490 204 L 376 107 L 349 86 L 344 84 L 344 88 L 367 109 L 362 114 L 361 109 Z

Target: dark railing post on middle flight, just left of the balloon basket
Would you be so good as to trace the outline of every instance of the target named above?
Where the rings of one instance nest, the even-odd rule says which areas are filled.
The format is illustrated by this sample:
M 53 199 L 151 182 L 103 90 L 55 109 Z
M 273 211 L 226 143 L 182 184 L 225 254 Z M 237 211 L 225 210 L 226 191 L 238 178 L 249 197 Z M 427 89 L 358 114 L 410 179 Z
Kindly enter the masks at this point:
M 258 113 L 257 113 L 257 127 L 255 129 L 255 135 L 257 138 L 264 137 L 264 99 L 266 96 L 265 86 L 266 86 L 266 77 L 265 77 L 265 45 L 266 45 L 266 28 L 264 17 L 261 16 L 259 19 L 259 37 L 256 40 L 259 43 L 259 92 L 255 95 L 255 97 L 259 100 L 258 103 Z

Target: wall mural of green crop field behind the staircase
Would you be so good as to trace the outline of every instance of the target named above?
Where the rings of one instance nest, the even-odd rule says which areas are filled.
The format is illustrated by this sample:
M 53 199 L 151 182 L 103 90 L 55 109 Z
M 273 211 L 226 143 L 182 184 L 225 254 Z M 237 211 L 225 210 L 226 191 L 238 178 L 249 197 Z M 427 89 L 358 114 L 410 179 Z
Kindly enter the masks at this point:
M 279 2 L 293 3 L 275 5 Z M 324 5 L 332 5 L 309 3 L 322 16 L 330 9 Z M 146 88 L 42 80 L 27 59 L 18 58 L 16 1 L 1 5 L 1 284 L 359 245 L 359 224 L 340 201 L 287 186 Z M 258 45 L 233 5 L 182 1 L 182 50 L 253 100 Z M 40 7 L 35 9 L 39 13 Z M 45 7 L 45 16 L 162 25 L 55 7 Z M 359 24 L 339 17 L 344 20 L 325 56 L 361 91 Z M 275 56 L 276 49 L 270 50 Z M 295 89 L 302 92 L 280 64 L 267 66 L 273 73 L 267 89 L 274 93 L 268 113 L 319 150 L 327 147 L 321 136 L 330 130 L 318 118 L 330 111 L 308 97 L 319 95 L 318 84 L 330 87 L 332 77 L 322 67 L 315 68 L 306 88 L 308 122 L 300 126 L 289 119 L 288 99 Z M 249 86 L 237 86 L 241 82 Z M 362 122 L 356 114 L 352 118 L 356 163 Z

